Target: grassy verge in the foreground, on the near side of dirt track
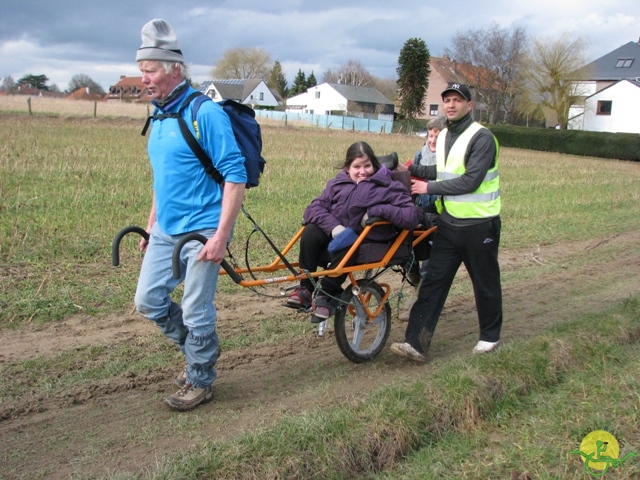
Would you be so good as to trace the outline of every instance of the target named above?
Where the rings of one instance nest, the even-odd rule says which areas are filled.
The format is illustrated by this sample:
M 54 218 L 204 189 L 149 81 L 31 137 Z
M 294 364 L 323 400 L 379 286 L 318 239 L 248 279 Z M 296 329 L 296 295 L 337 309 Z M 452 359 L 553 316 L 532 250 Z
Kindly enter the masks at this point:
M 639 319 L 629 298 L 490 356 L 434 363 L 425 380 L 110 478 L 588 478 L 571 453 L 586 434 L 612 433 L 621 457 L 639 444 Z M 640 475 L 632 459 L 611 472 Z

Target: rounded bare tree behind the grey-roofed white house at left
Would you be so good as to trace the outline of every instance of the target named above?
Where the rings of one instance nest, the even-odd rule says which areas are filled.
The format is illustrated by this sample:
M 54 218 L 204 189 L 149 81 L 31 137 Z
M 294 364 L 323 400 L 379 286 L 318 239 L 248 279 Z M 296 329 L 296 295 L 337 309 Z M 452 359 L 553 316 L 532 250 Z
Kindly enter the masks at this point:
M 211 75 L 217 79 L 261 78 L 268 79 L 271 72 L 271 55 L 261 48 L 232 48 L 224 52 Z

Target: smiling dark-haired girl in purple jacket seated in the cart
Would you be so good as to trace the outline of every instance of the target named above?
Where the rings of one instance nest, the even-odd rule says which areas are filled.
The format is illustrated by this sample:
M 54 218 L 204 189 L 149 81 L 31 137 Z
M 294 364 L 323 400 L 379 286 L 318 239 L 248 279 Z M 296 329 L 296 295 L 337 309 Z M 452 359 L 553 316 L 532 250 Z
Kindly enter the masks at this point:
M 371 147 L 356 142 L 347 150 L 342 170 L 329 180 L 322 193 L 304 211 L 306 227 L 300 239 L 300 268 L 315 272 L 320 264 L 337 265 L 345 256 L 369 217 L 381 217 L 391 225 L 378 226 L 367 235 L 367 242 L 386 243 L 398 229 L 414 229 L 420 212 L 407 188 L 380 165 Z M 353 264 L 355 255 L 347 265 Z M 286 306 L 309 310 L 311 321 L 322 322 L 335 313 L 337 299 L 347 274 L 324 276 L 313 299 L 314 286 L 306 278 L 287 299 Z

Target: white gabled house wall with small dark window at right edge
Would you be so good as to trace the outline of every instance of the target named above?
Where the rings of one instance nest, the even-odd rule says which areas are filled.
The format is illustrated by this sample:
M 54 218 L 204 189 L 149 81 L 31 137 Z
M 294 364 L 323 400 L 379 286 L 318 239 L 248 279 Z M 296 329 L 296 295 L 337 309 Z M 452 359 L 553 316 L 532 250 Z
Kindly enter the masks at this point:
M 620 80 L 587 97 L 583 112 L 569 120 L 569 128 L 640 134 L 638 111 L 640 81 Z

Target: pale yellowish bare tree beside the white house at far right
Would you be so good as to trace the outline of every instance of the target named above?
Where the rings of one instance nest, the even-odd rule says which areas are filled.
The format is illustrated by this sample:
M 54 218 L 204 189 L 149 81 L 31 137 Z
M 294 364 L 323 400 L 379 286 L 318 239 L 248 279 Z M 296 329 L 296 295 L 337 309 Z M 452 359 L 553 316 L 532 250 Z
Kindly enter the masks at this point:
M 585 46 L 582 37 L 565 32 L 556 39 L 534 40 L 527 58 L 523 104 L 553 112 L 561 129 L 567 128 L 571 106 L 585 94 L 584 86 L 574 81 L 586 63 Z

